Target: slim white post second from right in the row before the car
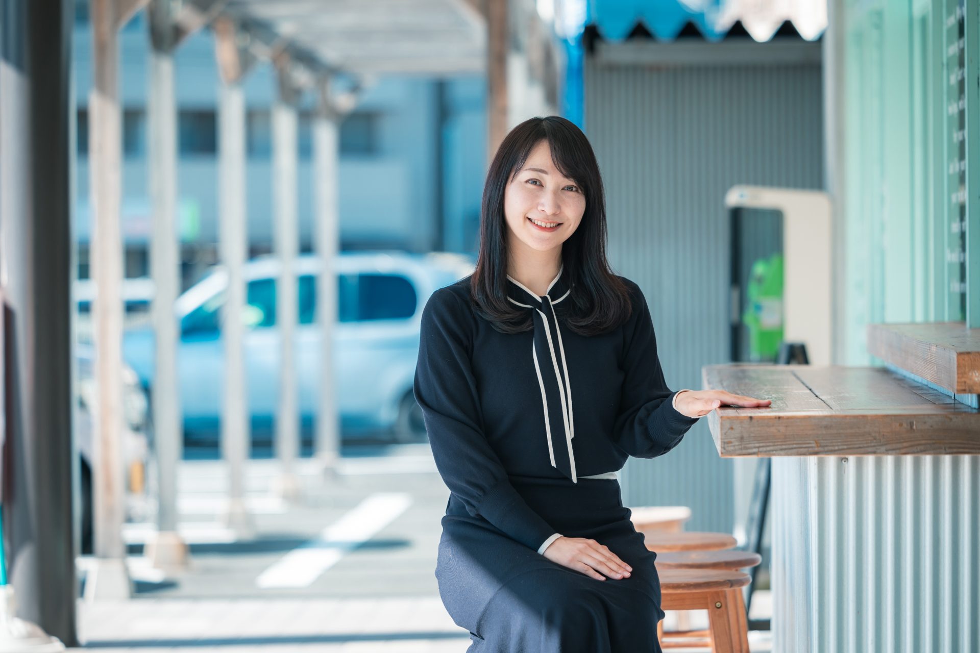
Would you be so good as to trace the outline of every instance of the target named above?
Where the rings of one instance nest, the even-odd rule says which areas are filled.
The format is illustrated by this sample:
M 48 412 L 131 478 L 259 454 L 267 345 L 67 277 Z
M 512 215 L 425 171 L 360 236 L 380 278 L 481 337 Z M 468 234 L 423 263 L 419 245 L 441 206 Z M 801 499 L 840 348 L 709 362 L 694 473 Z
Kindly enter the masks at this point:
M 299 495 L 295 461 L 299 451 L 299 404 L 293 340 L 299 313 L 296 256 L 299 250 L 297 217 L 297 92 L 285 70 L 278 65 L 279 94 L 272 107 L 272 204 L 274 251 L 279 259 L 275 284 L 275 324 L 279 334 L 279 406 L 275 416 L 275 448 L 281 469 L 274 484 L 286 499 Z

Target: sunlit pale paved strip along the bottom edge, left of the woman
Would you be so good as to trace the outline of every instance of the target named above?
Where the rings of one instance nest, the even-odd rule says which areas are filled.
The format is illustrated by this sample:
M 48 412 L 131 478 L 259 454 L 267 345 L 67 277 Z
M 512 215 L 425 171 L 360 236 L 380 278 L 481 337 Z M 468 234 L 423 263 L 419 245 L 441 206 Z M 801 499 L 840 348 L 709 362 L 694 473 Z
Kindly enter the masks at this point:
M 463 653 L 438 596 L 140 599 L 80 606 L 86 650 Z M 91 648 L 88 648 L 88 647 Z

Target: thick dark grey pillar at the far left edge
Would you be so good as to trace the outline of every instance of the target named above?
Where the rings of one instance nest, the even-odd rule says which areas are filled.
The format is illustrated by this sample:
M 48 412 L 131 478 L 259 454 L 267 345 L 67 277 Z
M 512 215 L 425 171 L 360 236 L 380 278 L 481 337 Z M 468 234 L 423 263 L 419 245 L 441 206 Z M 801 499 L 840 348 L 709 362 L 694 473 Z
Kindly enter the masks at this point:
M 0 25 L 2 593 L 16 589 L 18 616 L 73 646 L 73 6 L 8 0 Z

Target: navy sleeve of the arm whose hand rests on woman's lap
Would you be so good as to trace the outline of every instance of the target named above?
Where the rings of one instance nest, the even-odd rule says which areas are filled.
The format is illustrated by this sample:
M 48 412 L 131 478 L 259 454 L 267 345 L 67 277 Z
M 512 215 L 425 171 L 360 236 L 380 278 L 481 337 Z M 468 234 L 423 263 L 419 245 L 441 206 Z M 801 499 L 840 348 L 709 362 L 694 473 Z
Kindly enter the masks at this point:
M 469 350 L 472 320 L 453 291 L 433 293 L 422 309 L 415 396 L 436 468 L 473 516 L 537 550 L 555 534 L 517 493 L 483 433 Z

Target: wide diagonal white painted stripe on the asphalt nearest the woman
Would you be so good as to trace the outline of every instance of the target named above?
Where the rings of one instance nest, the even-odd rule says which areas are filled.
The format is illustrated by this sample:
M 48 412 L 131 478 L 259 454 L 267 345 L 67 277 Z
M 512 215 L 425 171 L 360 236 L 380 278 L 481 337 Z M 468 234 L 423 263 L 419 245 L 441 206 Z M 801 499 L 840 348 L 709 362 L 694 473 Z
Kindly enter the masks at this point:
M 411 504 L 411 494 L 371 494 L 335 524 L 323 529 L 317 539 L 311 539 L 277 560 L 256 579 L 256 585 L 271 589 L 313 584 L 344 555 L 393 522 Z

